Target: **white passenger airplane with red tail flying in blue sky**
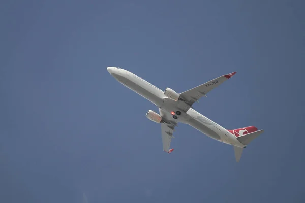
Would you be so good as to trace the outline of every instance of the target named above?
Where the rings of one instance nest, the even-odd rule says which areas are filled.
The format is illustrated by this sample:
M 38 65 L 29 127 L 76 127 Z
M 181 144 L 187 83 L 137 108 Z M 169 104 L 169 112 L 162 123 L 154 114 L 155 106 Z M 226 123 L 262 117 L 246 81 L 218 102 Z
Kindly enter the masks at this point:
M 258 130 L 255 126 L 227 130 L 195 111 L 192 106 L 195 102 L 199 102 L 198 100 L 201 97 L 207 97 L 206 94 L 212 89 L 233 77 L 236 72 L 222 75 L 190 90 L 177 93 L 168 87 L 163 91 L 120 67 L 107 67 L 107 71 L 118 82 L 159 108 L 159 114 L 153 110 L 148 110 L 146 117 L 161 124 L 163 150 L 167 153 L 174 150 L 170 149 L 170 143 L 174 138 L 173 132 L 178 123 L 188 124 L 214 140 L 232 145 L 236 162 L 239 162 L 243 149 L 264 132 L 264 130 Z

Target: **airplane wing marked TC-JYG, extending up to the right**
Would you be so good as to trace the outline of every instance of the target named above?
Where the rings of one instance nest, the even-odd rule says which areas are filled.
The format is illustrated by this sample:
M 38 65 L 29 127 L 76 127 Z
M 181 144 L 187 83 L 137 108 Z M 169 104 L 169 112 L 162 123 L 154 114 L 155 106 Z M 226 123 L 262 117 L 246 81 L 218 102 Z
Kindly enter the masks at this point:
M 236 72 L 229 73 L 227 75 L 220 76 L 214 80 L 208 81 L 202 85 L 194 87 L 188 91 L 180 93 L 180 97 L 186 101 L 190 106 L 192 106 L 196 101 L 198 101 L 202 96 L 206 96 L 208 92 L 212 89 L 218 87 L 220 84 L 234 76 Z

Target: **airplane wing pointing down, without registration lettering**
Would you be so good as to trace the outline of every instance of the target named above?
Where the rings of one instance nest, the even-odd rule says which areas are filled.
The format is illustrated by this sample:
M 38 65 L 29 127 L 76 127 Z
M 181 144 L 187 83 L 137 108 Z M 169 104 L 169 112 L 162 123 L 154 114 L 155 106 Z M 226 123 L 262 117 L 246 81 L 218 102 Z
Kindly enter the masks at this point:
M 177 125 L 177 122 L 172 118 L 171 114 L 159 109 L 160 116 L 169 122 L 169 123 L 160 123 L 161 124 L 161 133 L 162 133 L 162 144 L 163 150 L 167 153 L 171 153 L 174 149 L 170 149 L 170 142 L 173 138 L 174 128 Z

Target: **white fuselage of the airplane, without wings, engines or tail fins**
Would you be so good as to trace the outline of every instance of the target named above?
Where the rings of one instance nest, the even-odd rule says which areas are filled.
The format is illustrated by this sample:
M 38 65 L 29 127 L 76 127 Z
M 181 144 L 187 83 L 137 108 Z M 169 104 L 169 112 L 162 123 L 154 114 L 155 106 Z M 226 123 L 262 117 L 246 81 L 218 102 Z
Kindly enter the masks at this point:
M 107 70 L 121 84 L 146 98 L 158 108 L 169 113 L 181 110 L 179 107 L 182 106 L 181 103 L 184 103 L 184 101 L 168 99 L 164 95 L 164 91 L 139 76 L 117 67 L 108 67 Z M 193 108 L 189 108 L 186 112 L 182 112 L 176 121 L 189 124 L 206 134 L 206 136 L 217 141 L 238 147 L 245 147 L 245 145 L 240 143 L 227 129 L 198 113 Z

